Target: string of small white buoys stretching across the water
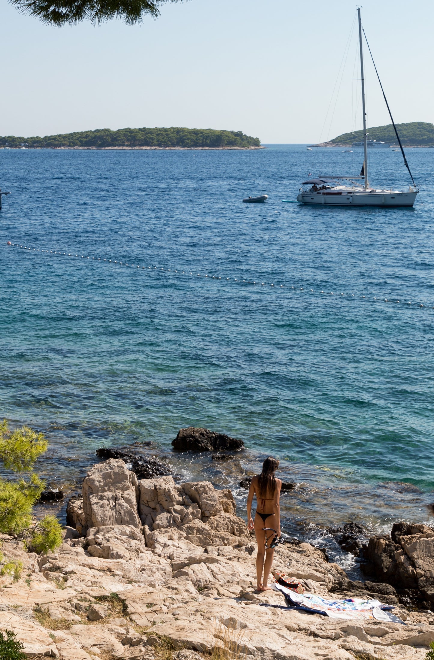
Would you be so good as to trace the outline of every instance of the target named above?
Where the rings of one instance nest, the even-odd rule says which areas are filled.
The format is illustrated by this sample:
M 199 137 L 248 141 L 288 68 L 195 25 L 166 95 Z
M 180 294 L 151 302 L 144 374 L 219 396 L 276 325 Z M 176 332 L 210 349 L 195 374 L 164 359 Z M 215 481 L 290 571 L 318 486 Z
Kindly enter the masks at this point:
M 303 291 L 308 294 L 316 294 L 316 295 L 326 295 L 326 296 L 336 296 L 336 298 L 357 298 L 359 300 L 365 300 L 366 302 L 386 302 L 386 303 L 392 303 L 392 304 L 400 304 L 402 306 L 408 307 L 413 306 L 417 308 L 424 308 L 424 309 L 429 309 L 431 308 L 434 310 L 434 305 L 429 305 L 427 303 L 423 304 L 421 302 L 412 302 L 411 300 L 404 300 L 404 298 L 395 298 L 394 296 L 390 296 L 388 298 L 383 298 L 382 296 L 369 296 L 369 295 L 363 295 L 363 294 L 354 294 L 354 293 L 342 293 L 342 292 L 336 292 L 336 291 L 324 291 L 323 289 L 318 289 L 314 290 L 313 288 L 305 287 L 305 286 L 293 286 L 291 284 L 274 284 L 272 282 L 262 282 L 260 279 L 258 280 L 252 280 L 252 279 L 240 279 L 240 277 L 221 277 L 219 275 L 206 275 L 204 273 L 196 273 L 196 271 L 189 271 L 189 270 L 184 270 L 182 271 L 181 269 L 173 269 L 173 268 L 162 268 L 161 266 L 142 266 L 142 265 L 137 265 L 134 263 L 127 263 L 126 261 L 119 261 L 118 259 L 107 259 L 104 257 L 89 257 L 87 255 L 83 254 L 73 254 L 73 253 L 67 253 L 67 252 L 61 252 L 57 250 L 49 250 L 49 249 L 40 249 L 40 248 L 29 248 L 28 246 L 23 246 L 19 245 L 18 243 L 12 243 L 11 241 L 7 242 L 8 246 L 11 246 L 13 248 L 20 248 L 20 249 L 25 249 L 30 252 L 40 252 L 48 255 L 59 255 L 61 257 L 72 257 L 73 259 L 89 259 L 89 261 L 100 261 L 100 262 L 106 262 L 106 263 L 111 263 L 113 265 L 119 265 L 119 266 L 128 266 L 132 268 L 137 268 L 139 271 L 157 271 L 157 273 L 161 273 L 163 271 L 164 273 L 170 273 L 170 275 L 187 275 L 188 277 L 202 277 L 203 279 L 207 280 L 217 280 L 217 281 L 222 281 L 222 282 L 231 282 L 236 284 L 252 284 L 254 286 L 270 286 L 275 290 L 279 289 L 285 289 L 285 290 L 290 290 L 294 292 L 298 291 Z M 335 299 L 336 299 L 335 298 Z

